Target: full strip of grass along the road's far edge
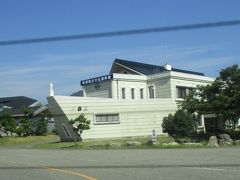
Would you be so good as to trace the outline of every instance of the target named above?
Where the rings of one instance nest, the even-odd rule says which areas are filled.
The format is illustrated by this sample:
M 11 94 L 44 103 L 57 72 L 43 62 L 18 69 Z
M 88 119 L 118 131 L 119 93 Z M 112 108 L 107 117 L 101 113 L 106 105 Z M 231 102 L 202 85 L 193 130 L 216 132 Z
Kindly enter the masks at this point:
M 190 139 L 183 139 L 184 142 L 189 142 Z M 3 137 L 0 138 L 0 147 L 28 147 L 36 149 L 140 149 L 140 148 L 206 148 L 207 141 L 198 144 L 167 144 L 174 142 L 172 137 L 158 136 L 157 145 L 151 145 L 149 142 L 151 137 L 126 137 L 126 138 L 111 138 L 84 140 L 77 142 L 60 142 L 57 135 L 47 136 L 28 136 L 28 137 Z M 140 145 L 131 145 L 129 142 L 140 142 Z M 21 146 L 22 145 L 22 146 Z

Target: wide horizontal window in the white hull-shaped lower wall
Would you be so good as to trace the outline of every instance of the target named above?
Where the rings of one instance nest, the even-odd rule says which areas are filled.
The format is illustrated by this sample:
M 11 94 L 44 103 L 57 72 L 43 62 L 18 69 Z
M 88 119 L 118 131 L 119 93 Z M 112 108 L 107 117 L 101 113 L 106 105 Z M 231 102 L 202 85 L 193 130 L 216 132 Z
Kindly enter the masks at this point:
M 95 116 L 95 124 L 117 124 L 120 123 L 118 114 L 99 114 Z

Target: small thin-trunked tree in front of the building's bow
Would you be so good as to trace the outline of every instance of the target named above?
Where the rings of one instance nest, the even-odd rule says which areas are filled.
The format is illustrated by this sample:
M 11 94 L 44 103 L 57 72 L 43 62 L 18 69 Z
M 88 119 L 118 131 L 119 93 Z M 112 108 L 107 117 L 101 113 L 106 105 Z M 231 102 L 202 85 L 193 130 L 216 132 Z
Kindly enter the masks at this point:
M 77 118 L 71 119 L 69 123 L 72 125 L 73 131 L 78 135 L 80 141 L 82 140 L 82 132 L 90 129 L 90 120 L 88 120 L 83 113 Z

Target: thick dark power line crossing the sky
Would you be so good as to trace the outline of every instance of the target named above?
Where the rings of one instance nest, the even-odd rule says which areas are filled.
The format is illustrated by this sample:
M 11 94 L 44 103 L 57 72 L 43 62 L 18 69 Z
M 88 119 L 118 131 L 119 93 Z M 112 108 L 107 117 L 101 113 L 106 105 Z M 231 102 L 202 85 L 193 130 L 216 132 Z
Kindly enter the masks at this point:
M 90 33 L 90 34 L 75 34 L 75 35 L 66 35 L 66 36 L 51 36 L 51 37 L 40 37 L 40 38 L 18 39 L 18 40 L 6 40 L 6 41 L 0 41 L 0 46 L 30 44 L 30 43 L 44 43 L 44 42 L 54 42 L 54 41 L 68 41 L 68 40 L 79 40 L 79 39 L 93 39 L 93 38 L 170 32 L 170 31 L 184 31 L 184 30 L 192 30 L 192 29 L 204 29 L 204 28 L 237 26 L 237 25 L 240 25 L 240 20 L 207 22 L 207 23 L 198 23 L 198 24 L 185 24 L 185 25 L 179 25 L 179 26 L 165 26 L 165 27 L 155 27 L 155 28 L 146 28 L 146 29 L 132 29 L 132 30 L 122 30 L 122 31 Z

